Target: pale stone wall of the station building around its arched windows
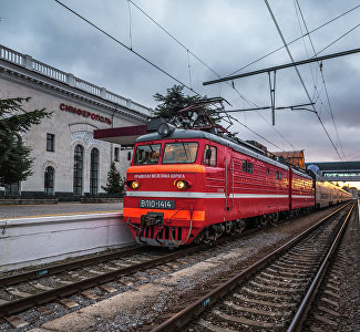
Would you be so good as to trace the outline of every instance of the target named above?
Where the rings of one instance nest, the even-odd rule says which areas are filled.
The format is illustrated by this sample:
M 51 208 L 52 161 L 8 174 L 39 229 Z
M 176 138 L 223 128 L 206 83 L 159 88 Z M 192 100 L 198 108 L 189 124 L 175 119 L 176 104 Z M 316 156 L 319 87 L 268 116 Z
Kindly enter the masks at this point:
M 29 132 L 24 133 L 25 144 L 32 148 L 31 157 L 33 160 L 33 175 L 21 183 L 22 191 L 43 191 L 44 172 L 48 166 L 54 168 L 54 191 L 73 191 L 73 165 L 74 148 L 78 144 L 84 148 L 84 168 L 83 168 L 83 194 L 90 191 L 90 155 L 91 149 L 96 147 L 100 152 L 99 163 L 99 193 L 102 193 L 101 186 L 105 186 L 110 163 L 113 159 L 114 147 L 120 145 L 102 142 L 93 138 L 94 129 L 103 129 L 132 126 L 136 122 L 125 120 L 114 115 L 109 110 L 91 105 L 78 98 L 48 93 L 35 85 L 27 86 L 0 77 L 0 98 L 10 97 L 31 97 L 29 103 L 23 103 L 23 111 L 33 111 L 35 108 L 45 108 L 52 112 L 50 118 L 43 118 L 41 124 L 34 125 Z M 101 123 L 78 114 L 62 111 L 61 104 L 71 105 L 76 108 L 89 111 L 104 117 L 112 118 L 113 123 Z M 47 133 L 54 134 L 54 152 L 47 152 Z M 123 157 L 125 155 L 125 157 Z M 116 168 L 125 176 L 128 162 L 127 152 L 120 155 L 120 160 L 115 163 Z

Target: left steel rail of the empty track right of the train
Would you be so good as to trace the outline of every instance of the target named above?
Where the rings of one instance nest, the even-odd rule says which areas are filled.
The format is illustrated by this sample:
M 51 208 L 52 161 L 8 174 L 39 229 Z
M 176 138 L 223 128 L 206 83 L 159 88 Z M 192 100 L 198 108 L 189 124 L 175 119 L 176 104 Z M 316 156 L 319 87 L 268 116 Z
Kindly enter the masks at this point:
M 322 224 L 328 221 L 331 217 L 343 210 L 348 207 L 349 204 L 346 204 L 341 206 L 336 211 L 331 212 L 329 216 L 322 218 L 317 224 L 309 227 L 307 230 L 302 231 L 300 235 L 296 236 L 288 242 L 286 242 L 280 248 L 274 250 L 256 263 L 251 264 L 246 270 L 237 273 L 236 276 L 232 277 L 229 280 L 224 282 L 223 284 L 218 286 L 213 291 L 208 292 L 206 295 L 197 299 L 192 304 L 189 304 L 187 308 L 183 309 L 182 311 L 174 314 L 172 318 L 160 324 L 158 326 L 151 330 L 151 332 L 164 332 L 164 331 L 174 331 L 175 329 L 179 329 L 187 324 L 192 319 L 194 319 L 196 315 L 200 314 L 205 309 L 216 303 L 220 298 L 223 298 L 226 293 L 228 293 L 230 290 L 236 288 L 239 283 L 248 279 L 250 276 L 256 273 L 258 270 L 264 268 L 266 264 L 268 264 L 270 261 L 275 260 L 277 257 L 286 252 L 289 248 L 291 248 L 294 245 L 302 240 L 305 237 L 310 235 L 313 230 L 316 230 L 318 227 L 320 227 Z

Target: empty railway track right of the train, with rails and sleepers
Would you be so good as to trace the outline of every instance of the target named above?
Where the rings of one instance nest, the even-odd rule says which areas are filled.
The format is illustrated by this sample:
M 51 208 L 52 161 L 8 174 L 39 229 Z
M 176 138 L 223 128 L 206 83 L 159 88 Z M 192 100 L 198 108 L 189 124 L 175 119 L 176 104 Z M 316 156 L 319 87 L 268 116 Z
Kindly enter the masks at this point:
M 338 209 L 250 268 L 234 272 L 166 321 L 158 320 L 152 331 L 300 331 L 352 209 Z

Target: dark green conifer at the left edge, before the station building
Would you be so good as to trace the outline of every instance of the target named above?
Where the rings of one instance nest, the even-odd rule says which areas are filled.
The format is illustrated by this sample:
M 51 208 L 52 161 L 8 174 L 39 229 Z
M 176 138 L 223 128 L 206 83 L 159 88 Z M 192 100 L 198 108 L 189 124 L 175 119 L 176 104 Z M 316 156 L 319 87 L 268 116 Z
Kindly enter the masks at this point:
M 7 187 L 27 179 L 31 174 L 31 148 L 25 146 L 21 133 L 40 124 L 51 113 L 44 110 L 23 112 L 23 102 L 30 98 L 0 100 L 0 186 Z M 21 113 L 20 113 L 21 112 Z

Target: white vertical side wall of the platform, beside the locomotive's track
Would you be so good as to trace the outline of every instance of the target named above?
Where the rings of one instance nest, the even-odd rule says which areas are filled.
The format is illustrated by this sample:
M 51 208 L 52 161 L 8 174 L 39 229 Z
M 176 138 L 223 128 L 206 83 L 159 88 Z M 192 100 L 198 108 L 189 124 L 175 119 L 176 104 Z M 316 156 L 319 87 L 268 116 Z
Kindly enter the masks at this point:
M 121 214 L 0 220 L 0 271 L 135 245 Z

